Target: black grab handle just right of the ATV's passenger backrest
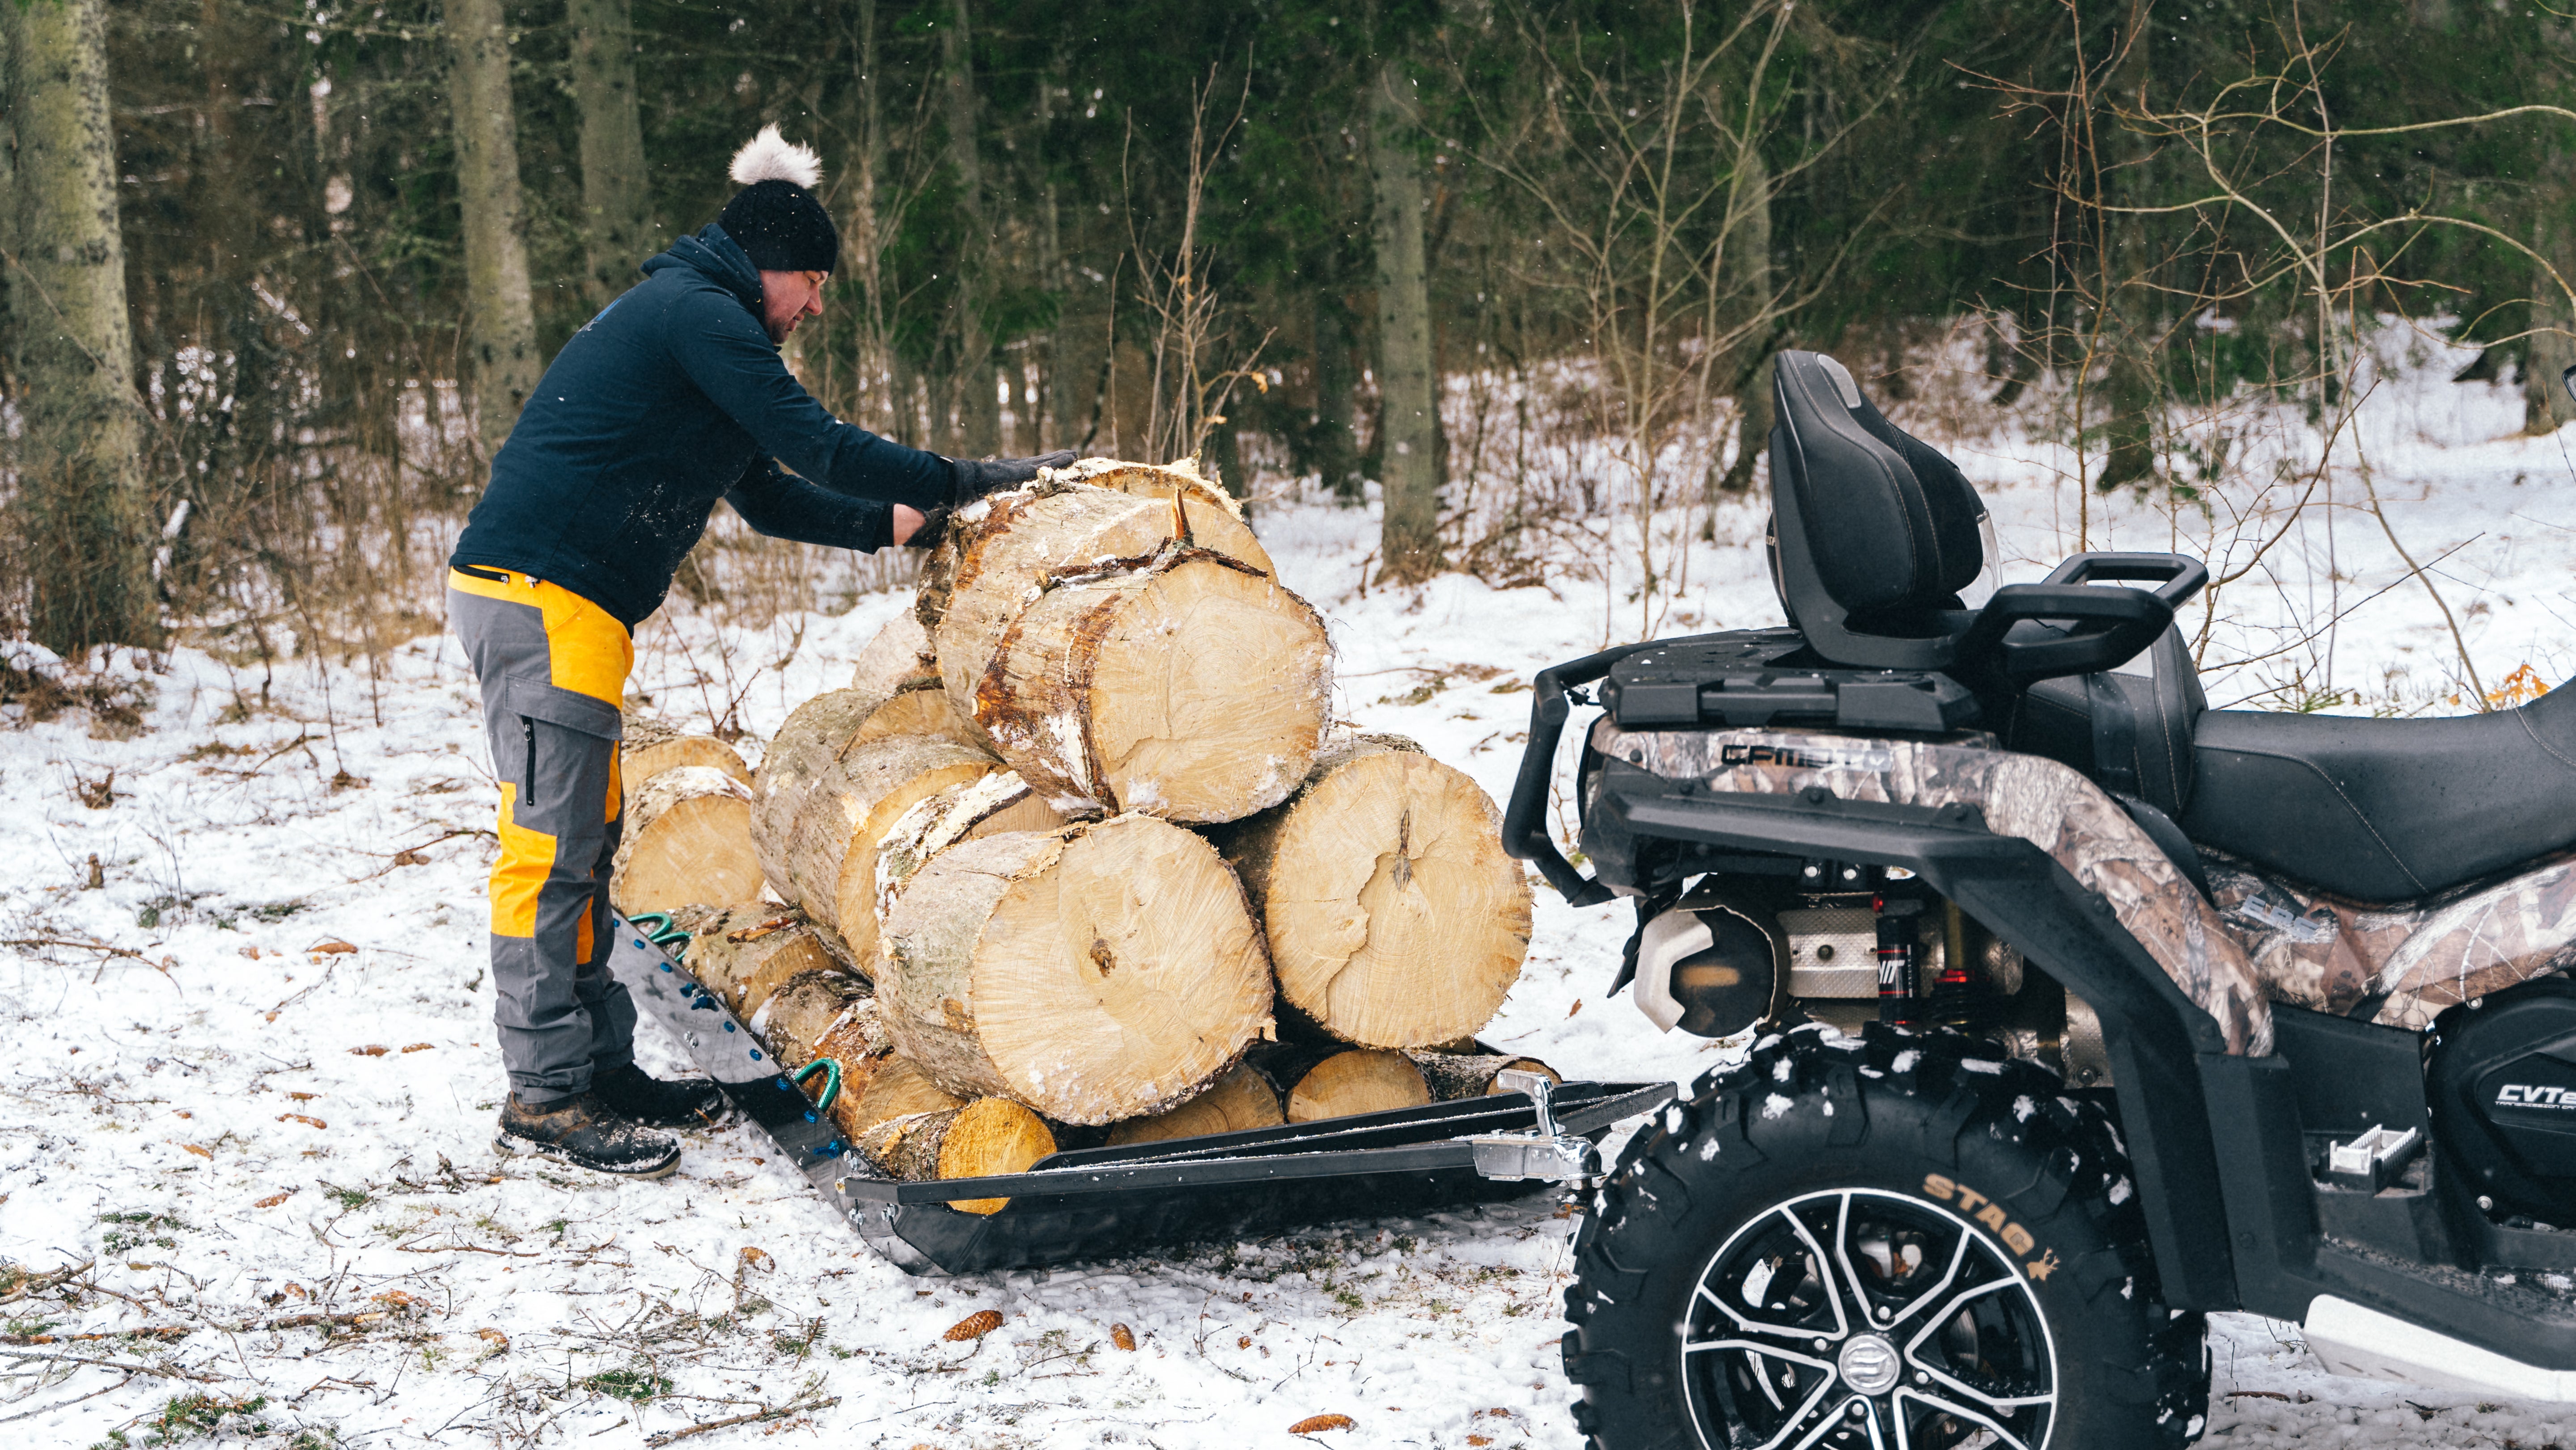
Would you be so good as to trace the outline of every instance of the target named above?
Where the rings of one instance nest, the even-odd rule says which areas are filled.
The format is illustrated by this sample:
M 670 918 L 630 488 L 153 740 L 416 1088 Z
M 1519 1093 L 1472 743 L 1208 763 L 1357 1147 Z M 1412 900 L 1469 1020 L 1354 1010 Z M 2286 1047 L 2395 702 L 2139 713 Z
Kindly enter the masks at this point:
M 2156 590 L 2094 590 L 2087 579 L 2156 579 Z M 2004 585 L 1958 641 L 1960 664 L 2014 685 L 2115 670 L 2156 644 L 2174 610 L 2210 582 L 2210 567 L 2182 554 L 2076 554 L 2045 582 Z M 2014 639 L 2020 623 L 2074 621 L 2063 634 Z

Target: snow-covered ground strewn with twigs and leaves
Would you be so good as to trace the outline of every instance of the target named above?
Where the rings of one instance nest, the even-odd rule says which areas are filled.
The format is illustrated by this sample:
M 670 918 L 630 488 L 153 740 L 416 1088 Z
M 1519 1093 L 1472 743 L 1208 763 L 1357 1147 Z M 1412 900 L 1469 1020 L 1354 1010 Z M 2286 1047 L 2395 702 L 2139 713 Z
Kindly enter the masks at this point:
M 2442 371 L 2424 358 L 2393 373 L 2331 505 L 2311 502 L 2223 595 L 2215 703 L 2465 708 L 2450 703 L 2455 626 L 2391 531 L 2432 561 L 2488 690 L 2519 664 L 2543 683 L 2576 664 L 2576 469 L 2555 438 L 2506 438 L 2514 397 L 2439 384 Z M 2280 438 L 2293 456 L 2298 430 Z M 2239 443 L 2259 446 L 2254 433 Z M 2074 549 L 2058 448 L 1984 438 L 1958 458 L 1994 507 L 2004 579 L 2035 579 Z M 2249 500 L 2213 497 L 2231 533 L 2226 510 Z M 2210 528 L 2133 497 L 2092 500 L 2081 523 L 2094 549 L 2156 549 L 2179 528 L 2197 551 Z M 2262 523 L 2246 528 L 2269 533 Z M 1422 739 L 1497 798 L 1528 675 L 1638 628 L 1625 564 L 1607 585 L 1569 569 L 1553 590 L 1455 574 L 1363 590 L 1368 513 L 1275 505 L 1260 528 L 1332 621 L 1334 713 Z M 1667 634 L 1777 618 L 1752 546 L 1759 513 L 1721 507 L 1713 533 L 1664 608 Z M 840 685 L 904 605 L 876 595 L 757 631 L 654 623 L 636 688 L 680 719 L 739 701 L 760 737 Z M 2339 610 L 2331 636 L 2293 628 Z M 77 1267 L 15 1290 L 0 1277 L 0 1347 L 52 1334 L 39 1352 L 62 1355 L 8 1362 L 0 1442 L 219 1429 L 281 1445 L 611 1450 L 760 1411 L 786 1414 L 711 1435 L 1260 1450 L 1293 1445 L 1306 1417 L 1342 1414 L 1347 1429 L 1314 1437 L 1577 1442 L 1556 1362 L 1571 1221 L 1548 1200 L 912 1280 L 750 1128 L 690 1136 L 683 1172 L 649 1185 L 497 1162 L 482 937 L 492 780 L 456 646 L 420 639 L 376 670 L 299 659 L 273 677 L 180 649 L 142 680 L 137 731 L 72 711 L 0 734 L 0 1272 Z M 1489 1040 L 1571 1077 L 1687 1079 L 1713 1061 L 1602 997 L 1625 912 L 1538 891 L 1535 925 Z M 680 1066 L 652 1025 L 641 1051 L 652 1069 Z M 984 1308 L 1002 1329 L 940 1339 Z M 1133 1352 L 1113 1347 L 1113 1324 L 1131 1326 Z M 157 1337 L 121 1337 L 134 1329 Z M 2329 1378 L 2285 1324 L 2223 1316 L 2213 1347 L 2221 1442 L 2576 1437 L 2576 1411 Z

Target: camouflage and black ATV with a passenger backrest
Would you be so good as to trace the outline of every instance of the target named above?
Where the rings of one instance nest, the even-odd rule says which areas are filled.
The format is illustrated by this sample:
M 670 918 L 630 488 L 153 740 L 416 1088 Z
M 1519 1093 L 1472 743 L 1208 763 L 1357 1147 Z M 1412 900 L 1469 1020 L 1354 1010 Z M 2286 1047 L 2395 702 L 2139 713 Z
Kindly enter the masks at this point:
M 2200 561 L 1968 608 L 1958 466 L 1821 353 L 1772 397 L 1790 626 L 1540 672 L 1504 816 L 1633 901 L 1613 992 L 1749 1033 L 1584 1203 L 1589 1442 L 2187 1445 L 2210 1311 L 2576 1398 L 2576 688 L 2213 711 Z M 1546 829 L 1571 706 L 1589 876 Z

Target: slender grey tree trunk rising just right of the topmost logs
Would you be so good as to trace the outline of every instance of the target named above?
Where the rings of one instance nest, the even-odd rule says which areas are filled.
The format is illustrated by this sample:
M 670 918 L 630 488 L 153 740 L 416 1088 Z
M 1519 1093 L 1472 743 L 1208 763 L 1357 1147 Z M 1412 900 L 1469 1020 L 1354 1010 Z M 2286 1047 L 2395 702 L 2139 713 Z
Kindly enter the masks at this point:
M 1440 572 L 1440 379 L 1422 258 L 1422 157 L 1406 121 L 1412 80 L 1394 59 L 1368 85 L 1368 170 L 1378 242 L 1378 572 L 1417 585 Z

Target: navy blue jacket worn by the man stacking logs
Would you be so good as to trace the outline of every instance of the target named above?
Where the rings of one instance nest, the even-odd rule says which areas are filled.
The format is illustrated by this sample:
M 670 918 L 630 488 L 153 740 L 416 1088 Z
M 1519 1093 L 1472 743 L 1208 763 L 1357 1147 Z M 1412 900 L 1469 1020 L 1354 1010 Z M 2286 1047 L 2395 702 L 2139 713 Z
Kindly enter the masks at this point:
M 938 453 L 850 428 L 804 391 L 760 327 L 760 270 L 708 227 L 564 343 L 451 561 L 562 585 L 634 628 L 719 497 L 775 538 L 884 549 L 891 505 L 927 510 L 948 487 Z

